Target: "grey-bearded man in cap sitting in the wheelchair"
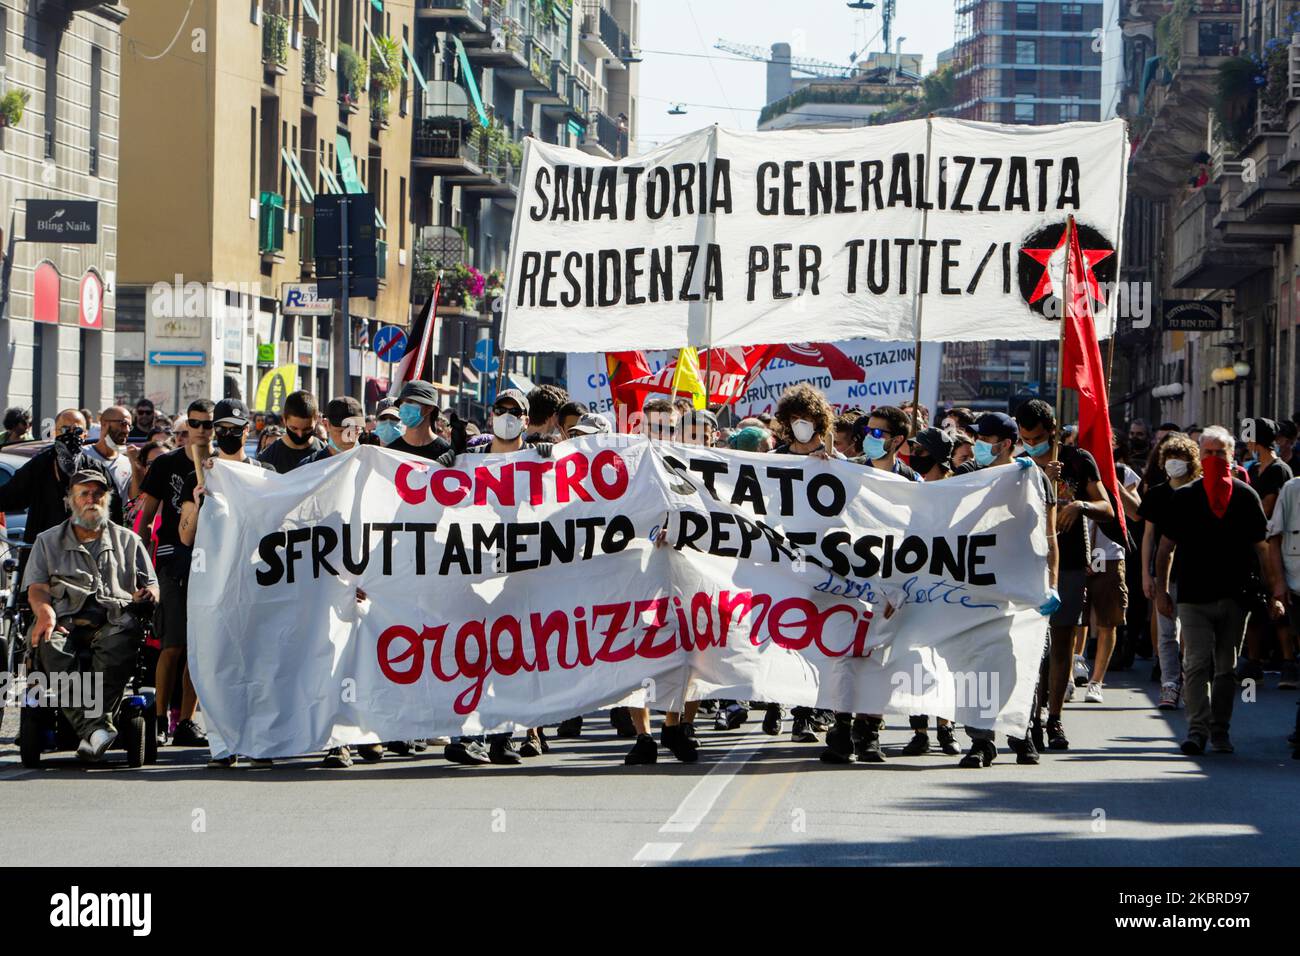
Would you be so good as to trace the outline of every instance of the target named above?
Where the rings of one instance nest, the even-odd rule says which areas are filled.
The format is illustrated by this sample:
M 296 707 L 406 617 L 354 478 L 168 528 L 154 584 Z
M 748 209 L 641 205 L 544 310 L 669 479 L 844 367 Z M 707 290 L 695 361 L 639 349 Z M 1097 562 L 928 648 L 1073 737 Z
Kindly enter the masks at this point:
M 69 518 L 36 536 L 23 576 L 40 669 L 51 676 L 74 674 L 78 657 L 88 656 L 94 674 L 103 675 L 100 700 L 60 702 L 81 740 L 77 756 L 88 761 L 100 760 L 117 739 L 113 715 L 144 636 L 131 605 L 159 597 L 143 542 L 109 520 L 112 494 L 103 472 L 73 475 Z

